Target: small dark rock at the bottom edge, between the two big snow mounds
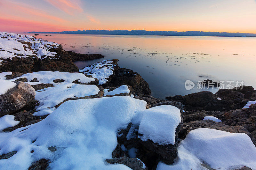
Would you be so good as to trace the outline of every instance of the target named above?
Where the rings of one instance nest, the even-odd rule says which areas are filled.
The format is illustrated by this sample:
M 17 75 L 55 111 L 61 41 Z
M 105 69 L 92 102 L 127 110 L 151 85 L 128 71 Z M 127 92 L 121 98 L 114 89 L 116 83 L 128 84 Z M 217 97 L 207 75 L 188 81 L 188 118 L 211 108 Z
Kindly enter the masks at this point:
M 106 162 L 110 164 L 124 164 L 128 167 L 130 167 L 133 170 L 145 170 L 147 169 L 146 166 L 143 166 L 144 164 L 137 158 L 130 158 L 130 157 L 119 157 L 119 158 L 113 158 L 113 159 L 106 159 Z

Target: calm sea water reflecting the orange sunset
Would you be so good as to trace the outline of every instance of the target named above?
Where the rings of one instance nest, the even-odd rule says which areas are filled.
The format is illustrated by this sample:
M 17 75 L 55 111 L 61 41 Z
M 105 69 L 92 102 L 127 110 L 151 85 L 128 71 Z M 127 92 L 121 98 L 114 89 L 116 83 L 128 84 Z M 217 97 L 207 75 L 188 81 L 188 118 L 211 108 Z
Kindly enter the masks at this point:
M 203 91 L 197 89 L 197 82 L 204 79 L 224 81 L 223 84 L 231 86 L 236 85 L 233 81 L 239 84 L 244 81 L 244 85 L 256 88 L 255 37 L 84 34 L 36 37 L 60 43 L 65 50 L 105 56 L 76 62 L 79 68 L 105 59 L 119 59 L 119 66 L 138 72 L 157 98 Z M 186 80 L 194 82 L 195 87 L 186 90 Z M 218 89 L 208 91 L 215 93 Z

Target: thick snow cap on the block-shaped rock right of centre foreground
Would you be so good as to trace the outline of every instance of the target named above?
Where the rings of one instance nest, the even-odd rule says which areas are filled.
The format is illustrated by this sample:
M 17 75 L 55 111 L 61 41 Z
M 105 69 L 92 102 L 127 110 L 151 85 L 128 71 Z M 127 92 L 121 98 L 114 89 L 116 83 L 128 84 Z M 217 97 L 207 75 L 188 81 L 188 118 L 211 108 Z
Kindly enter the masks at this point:
M 162 105 L 145 110 L 139 126 L 138 137 L 147 141 L 166 145 L 174 144 L 175 130 L 180 124 L 180 109 L 175 106 Z

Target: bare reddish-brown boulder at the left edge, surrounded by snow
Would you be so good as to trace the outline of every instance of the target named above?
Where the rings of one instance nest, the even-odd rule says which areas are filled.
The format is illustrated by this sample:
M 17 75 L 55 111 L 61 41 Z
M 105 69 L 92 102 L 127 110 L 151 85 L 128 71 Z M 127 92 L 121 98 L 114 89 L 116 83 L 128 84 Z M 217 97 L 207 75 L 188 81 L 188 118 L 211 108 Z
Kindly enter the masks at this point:
M 24 107 L 35 98 L 36 91 L 27 83 L 13 81 L 17 85 L 0 95 L 0 117 Z

